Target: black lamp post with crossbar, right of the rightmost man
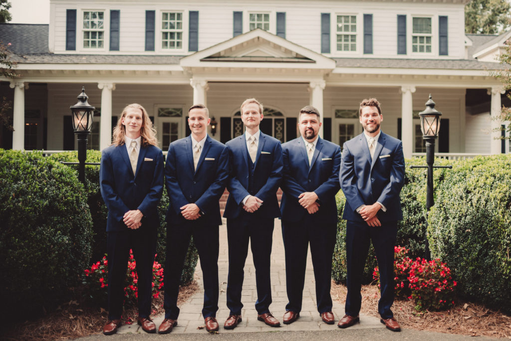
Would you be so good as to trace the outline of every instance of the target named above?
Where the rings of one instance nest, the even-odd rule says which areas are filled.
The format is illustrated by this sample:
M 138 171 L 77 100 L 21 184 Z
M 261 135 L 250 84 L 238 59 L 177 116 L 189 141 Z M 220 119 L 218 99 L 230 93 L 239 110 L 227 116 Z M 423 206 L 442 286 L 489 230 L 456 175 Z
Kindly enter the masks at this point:
M 422 137 L 426 141 L 426 164 L 427 166 L 410 166 L 410 168 L 428 168 L 427 178 L 427 193 L 426 193 L 426 211 L 429 212 L 431 206 L 434 205 L 433 198 L 433 168 L 452 168 L 452 166 L 433 166 L 435 162 L 435 140 L 438 138 L 438 131 L 440 130 L 440 116 L 442 113 L 435 109 L 435 102 L 429 95 L 429 100 L 426 102 L 426 109 L 419 113 L 421 117 L 421 130 Z M 424 242 L 424 258 L 431 259 L 431 252 L 429 251 L 428 230 L 426 227 L 426 240 Z

